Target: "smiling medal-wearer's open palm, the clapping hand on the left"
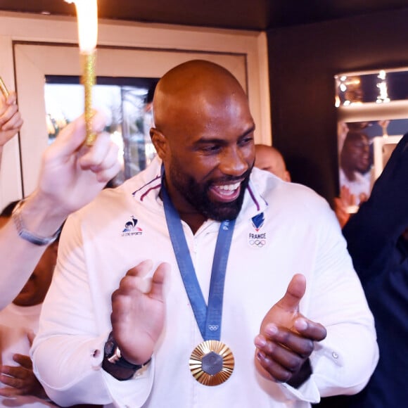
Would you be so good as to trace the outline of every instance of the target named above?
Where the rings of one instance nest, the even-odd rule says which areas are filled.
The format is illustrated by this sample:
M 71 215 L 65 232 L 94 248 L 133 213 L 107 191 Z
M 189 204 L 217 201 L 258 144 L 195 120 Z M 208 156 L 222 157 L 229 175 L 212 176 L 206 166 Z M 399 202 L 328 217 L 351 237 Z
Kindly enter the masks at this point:
M 144 276 L 152 267 L 152 261 L 146 260 L 129 269 L 112 294 L 113 338 L 122 357 L 132 364 L 144 364 L 151 358 L 164 326 L 163 283 L 170 265 L 160 264 L 150 282 Z

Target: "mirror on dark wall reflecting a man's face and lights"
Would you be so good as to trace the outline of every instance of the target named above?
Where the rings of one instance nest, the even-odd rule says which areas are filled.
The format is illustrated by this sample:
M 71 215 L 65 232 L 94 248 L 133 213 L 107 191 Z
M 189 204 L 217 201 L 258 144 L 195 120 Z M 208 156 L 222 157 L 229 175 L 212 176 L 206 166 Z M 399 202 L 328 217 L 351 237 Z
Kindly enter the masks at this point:
M 408 68 L 335 75 L 340 197 L 355 212 L 408 132 Z

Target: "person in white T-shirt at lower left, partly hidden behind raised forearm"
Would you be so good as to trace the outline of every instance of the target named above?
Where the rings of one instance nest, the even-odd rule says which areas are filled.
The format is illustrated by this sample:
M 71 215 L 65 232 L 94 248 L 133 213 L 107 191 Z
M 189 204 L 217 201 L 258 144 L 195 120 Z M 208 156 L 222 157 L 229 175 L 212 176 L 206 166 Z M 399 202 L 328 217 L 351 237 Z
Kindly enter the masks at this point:
M 0 229 L 18 201 L 0 214 Z M 56 407 L 32 371 L 30 347 L 38 330 L 39 314 L 56 265 L 58 239 L 47 246 L 25 286 L 0 311 L 0 407 Z M 97 407 L 81 404 L 76 408 Z

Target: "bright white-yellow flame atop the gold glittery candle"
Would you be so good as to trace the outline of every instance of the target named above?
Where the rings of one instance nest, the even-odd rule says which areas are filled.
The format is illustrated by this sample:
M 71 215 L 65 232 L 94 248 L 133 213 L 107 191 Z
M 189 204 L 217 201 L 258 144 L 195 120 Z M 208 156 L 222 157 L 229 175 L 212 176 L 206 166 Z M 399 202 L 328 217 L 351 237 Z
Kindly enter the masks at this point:
M 98 39 L 97 0 L 65 0 L 75 3 L 77 8 L 79 49 L 82 53 L 92 53 Z

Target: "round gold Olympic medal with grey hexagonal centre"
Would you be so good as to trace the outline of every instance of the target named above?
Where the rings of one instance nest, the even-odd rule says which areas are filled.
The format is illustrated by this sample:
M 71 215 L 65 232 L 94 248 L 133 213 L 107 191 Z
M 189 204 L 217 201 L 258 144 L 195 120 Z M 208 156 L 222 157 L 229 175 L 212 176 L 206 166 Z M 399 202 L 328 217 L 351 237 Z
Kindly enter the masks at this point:
M 234 355 L 227 345 L 218 340 L 206 340 L 191 353 L 190 371 L 203 385 L 219 385 L 234 371 Z

